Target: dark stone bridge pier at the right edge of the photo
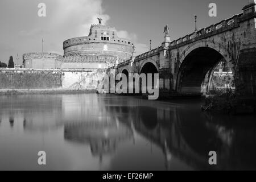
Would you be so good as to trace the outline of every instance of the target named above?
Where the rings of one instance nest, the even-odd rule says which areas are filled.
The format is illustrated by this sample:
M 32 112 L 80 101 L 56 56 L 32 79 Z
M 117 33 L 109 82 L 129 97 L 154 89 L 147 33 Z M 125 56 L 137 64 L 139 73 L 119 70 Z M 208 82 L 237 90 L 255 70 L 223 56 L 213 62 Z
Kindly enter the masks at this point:
M 234 73 L 237 107 L 256 111 L 256 1 L 243 7 L 240 19 L 241 49 Z M 238 109 L 239 110 L 239 109 Z M 239 111 L 238 111 L 239 112 Z

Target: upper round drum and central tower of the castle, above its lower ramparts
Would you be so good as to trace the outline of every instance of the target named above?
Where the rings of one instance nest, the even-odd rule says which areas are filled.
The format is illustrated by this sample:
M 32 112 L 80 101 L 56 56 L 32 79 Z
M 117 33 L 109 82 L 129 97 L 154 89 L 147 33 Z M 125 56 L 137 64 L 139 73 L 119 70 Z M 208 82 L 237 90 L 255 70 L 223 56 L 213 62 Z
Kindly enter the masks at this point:
M 88 36 L 63 42 L 64 57 L 72 55 L 109 55 L 127 60 L 134 51 L 130 40 L 119 38 L 114 27 L 92 24 Z

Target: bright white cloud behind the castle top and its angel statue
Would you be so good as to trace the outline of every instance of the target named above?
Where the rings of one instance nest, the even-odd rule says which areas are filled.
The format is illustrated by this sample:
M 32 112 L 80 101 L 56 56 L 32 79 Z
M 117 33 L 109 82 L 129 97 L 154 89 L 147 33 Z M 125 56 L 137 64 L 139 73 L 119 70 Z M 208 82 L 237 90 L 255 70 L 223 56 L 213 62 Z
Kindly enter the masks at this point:
M 52 32 L 65 32 L 61 40 L 88 36 L 91 24 L 97 24 L 100 9 L 103 24 L 108 24 L 110 16 L 104 14 L 102 0 L 57 0 L 57 9 L 51 20 Z M 130 39 L 136 46 L 137 55 L 148 51 L 146 44 L 138 43 L 137 35 L 124 30 L 117 32 L 120 38 Z M 60 52 L 60 51 L 56 51 Z

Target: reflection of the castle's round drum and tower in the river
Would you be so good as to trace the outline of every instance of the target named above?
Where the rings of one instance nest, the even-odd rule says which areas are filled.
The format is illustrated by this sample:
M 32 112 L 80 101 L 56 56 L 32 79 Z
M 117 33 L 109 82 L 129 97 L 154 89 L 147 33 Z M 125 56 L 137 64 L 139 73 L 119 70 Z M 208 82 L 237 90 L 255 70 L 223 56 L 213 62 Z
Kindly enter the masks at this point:
M 119 121 L 71 122 L 64 127 L 65 140 L 89 144 L 92 154 L 100 157 L 112 154 L 119 143 L 133 138 L 133 131 Z

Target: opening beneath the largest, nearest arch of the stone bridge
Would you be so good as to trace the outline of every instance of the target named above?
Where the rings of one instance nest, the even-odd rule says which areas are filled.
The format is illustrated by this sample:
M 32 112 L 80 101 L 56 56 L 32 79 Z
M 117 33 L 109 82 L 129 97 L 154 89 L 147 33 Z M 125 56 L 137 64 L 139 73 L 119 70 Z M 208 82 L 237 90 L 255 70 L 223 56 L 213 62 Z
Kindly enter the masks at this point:
M 177 76 L 176 91 L 182 94 L 214 94 L 234 89 L 232 68 L 215 49 L 200 47 L 185 57 Z

